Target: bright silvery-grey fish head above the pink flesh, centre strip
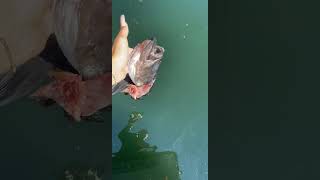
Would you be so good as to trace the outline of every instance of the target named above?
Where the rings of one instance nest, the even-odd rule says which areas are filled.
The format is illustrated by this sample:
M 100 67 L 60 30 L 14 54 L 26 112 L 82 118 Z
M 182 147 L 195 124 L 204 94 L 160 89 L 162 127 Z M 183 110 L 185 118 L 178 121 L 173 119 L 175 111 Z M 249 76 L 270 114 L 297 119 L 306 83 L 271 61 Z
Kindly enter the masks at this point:
M 150 84 L 156 78 L 163 54 L 164 48 L 157 45 L 155 38 L 145 40 L 133 49 L 128 74 L 136 86 Z

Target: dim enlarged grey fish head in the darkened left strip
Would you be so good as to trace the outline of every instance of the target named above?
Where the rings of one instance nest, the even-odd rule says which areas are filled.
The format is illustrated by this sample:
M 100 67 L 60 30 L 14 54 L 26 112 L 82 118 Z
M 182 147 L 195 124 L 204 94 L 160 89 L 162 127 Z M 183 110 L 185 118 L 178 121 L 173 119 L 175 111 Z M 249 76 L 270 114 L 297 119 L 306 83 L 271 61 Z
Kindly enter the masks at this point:
M 112 1 L 56 0 L 53 12 L 57 41 L 80 75 L 93 79 L 111 73 Z

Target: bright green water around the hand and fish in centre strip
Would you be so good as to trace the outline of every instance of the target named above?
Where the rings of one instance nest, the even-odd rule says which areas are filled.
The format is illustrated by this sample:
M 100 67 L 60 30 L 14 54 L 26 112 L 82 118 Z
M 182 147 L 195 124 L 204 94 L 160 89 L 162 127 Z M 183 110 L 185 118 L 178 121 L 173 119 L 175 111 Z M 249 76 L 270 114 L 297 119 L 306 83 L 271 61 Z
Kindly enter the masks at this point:
M 148 142 L 157 145 L 158 151 L 177 153 L 181 178 L 207 179 L 207 1 L 117 0 L 112 7 L 113 37 L 120 15 L 125 14 L 131 47 L 155 36 L 166 49 L 149 96 L 140 101 L 113 97 L 112 151 L 121 146 L 117 135 L 129 113 L 141 111 L 144 118 L 136 129 L 147 129 Z

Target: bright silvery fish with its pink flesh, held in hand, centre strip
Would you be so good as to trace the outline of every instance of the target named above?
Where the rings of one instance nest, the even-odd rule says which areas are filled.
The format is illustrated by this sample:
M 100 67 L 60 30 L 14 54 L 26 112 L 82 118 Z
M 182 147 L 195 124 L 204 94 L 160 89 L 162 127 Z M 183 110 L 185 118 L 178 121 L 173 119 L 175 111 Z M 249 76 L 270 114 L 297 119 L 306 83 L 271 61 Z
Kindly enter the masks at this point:
M 156 80 L 164 51 L 155 38 L 138 44 L 130 54 L 127 78 L 112 87 L 112 94 L 123 92 L 135 100 L 147 95 Z

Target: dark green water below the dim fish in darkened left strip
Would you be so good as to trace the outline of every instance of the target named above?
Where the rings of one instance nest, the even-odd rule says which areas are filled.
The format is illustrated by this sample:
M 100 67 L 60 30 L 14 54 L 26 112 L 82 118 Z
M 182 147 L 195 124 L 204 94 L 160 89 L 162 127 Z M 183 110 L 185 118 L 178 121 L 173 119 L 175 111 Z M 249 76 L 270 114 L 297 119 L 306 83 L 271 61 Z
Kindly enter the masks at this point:
M 111 112 L 103 113 L 105 123 L 73 123 L 61 107 L 26 99 L 0 114 L 1 179 L 56 180 L 70 167 L 110 171 Z

